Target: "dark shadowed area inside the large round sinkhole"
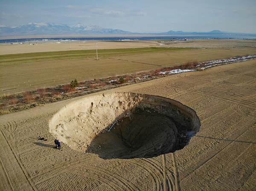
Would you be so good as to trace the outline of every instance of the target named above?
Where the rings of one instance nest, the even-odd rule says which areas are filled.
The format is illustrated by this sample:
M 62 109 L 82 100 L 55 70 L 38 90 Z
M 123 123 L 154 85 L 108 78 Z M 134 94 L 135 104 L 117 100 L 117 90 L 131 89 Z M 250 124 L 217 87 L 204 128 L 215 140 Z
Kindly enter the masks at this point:
M 138 104 L 129 116 L 118 118 L 99 133 L 87 152 L 102 159 L 131 159 L 157 157 L 180 150 L 200 127 L 195 111 L 183 106 L 189 112 L 177 110 L 169 103 L 161 107 Z

